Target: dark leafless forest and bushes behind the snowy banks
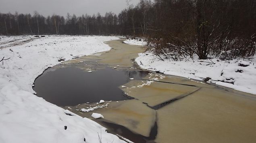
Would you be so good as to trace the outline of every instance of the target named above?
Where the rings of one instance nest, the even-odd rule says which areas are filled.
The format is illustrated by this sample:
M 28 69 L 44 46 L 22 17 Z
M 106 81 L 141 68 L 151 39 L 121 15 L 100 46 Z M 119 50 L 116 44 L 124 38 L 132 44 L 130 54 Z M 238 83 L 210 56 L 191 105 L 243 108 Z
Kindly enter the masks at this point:
M 85 10 L 86 11 L 86 10 Z M 0 13 L 0 34 L 143 37 L 160 60 L 250 58 L 256 52 L 255 0 L 140 0 L 119 14 L 44 17 Z

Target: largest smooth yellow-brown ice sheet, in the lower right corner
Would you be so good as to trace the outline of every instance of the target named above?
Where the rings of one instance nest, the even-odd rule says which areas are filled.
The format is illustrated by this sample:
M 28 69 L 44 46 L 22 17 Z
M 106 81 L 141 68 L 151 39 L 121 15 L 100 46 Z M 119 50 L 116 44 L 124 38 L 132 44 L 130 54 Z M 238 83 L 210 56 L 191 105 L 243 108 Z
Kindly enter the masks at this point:
M 255 99 L 225 90 L 200 91 L 157 110 L 156 142 L 253 143 Z

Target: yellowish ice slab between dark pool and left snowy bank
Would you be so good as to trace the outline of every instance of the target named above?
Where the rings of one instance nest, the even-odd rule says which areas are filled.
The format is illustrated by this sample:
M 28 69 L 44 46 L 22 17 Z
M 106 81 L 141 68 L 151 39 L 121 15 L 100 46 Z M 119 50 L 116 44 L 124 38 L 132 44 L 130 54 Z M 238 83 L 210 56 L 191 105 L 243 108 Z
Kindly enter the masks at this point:
M 122 125 L 132 131 L 143 135 L 145 137 L 150 136 L 151 128 L 156 121 L 156 111 L 148 108 L 142 101 L 131 99 L 126 101 L 112 101 L 106 108 L 96 109 L 96 113 L 104 115 L 104 120 Z M 71 111 L 77 115 L 93 119 L 91 117 L 92 112 L 78 112 L 76 109 L 87 109 L 87 107 L 96 107 L 103 104 L 81 104 L 75 107 L 70 107 Z M 67 108 L 67 107 L 66 107 Z M 67 108 L 68 109 L 68 108 Z

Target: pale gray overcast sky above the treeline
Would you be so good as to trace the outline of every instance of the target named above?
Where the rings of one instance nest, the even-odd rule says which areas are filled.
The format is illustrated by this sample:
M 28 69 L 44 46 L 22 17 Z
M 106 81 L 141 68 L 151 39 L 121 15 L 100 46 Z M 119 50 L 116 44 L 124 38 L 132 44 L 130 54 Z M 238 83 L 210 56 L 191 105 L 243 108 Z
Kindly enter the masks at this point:
M 130 4 L 136 5 L 139 0 L 130 0 Z M 112 11 L 116 14 L 126 8 L 125 0 L 0 0 L 0 12 L 12 14 L 15 11 L 19 13 L 31 13 L 37 10 L 38 13 L 48 16 L 59 14 L 66 16 L 76 14 L 96 14 L 100 12 L 102 15 L 105 12 Z

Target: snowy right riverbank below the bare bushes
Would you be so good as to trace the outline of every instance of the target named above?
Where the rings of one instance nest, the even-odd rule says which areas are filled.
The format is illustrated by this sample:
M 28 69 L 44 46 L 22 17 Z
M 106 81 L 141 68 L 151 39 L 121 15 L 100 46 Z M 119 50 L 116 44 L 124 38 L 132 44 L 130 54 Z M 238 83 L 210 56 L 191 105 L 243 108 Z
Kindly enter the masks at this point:
M 139 53 L 135 61 L 144 69 L 200 81 L 210 78 L 208 83 L 256 94 L 256 56 L 250 60 L 196 59 L 162 61 L 152 52 L 145 52 Z

